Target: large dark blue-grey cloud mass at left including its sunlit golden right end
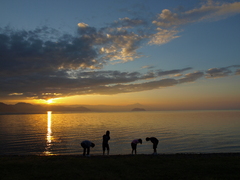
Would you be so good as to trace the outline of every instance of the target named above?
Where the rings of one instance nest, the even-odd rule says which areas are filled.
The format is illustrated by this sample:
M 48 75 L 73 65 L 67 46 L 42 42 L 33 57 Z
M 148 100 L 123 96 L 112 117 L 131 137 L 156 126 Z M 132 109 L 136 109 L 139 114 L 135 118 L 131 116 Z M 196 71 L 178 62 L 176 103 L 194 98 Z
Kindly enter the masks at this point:
M 1 76 L 56 73 L 69 69 L 99 69 L 109 61 L 132 61 L 143 37 L 123 29 L 97 30 L 78 24 L 78 35 L 42 27 L 33 31 L 0 31 Z M 63 72 L 63 71 L 62 71 Z

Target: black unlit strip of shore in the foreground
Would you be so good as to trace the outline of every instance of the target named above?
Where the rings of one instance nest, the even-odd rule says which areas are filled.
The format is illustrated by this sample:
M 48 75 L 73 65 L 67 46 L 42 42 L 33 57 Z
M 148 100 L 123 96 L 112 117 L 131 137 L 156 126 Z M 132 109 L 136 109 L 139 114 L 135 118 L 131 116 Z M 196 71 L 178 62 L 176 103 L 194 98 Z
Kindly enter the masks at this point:
M 0 179 L 240 179 L 240 154 L 0 156 Z

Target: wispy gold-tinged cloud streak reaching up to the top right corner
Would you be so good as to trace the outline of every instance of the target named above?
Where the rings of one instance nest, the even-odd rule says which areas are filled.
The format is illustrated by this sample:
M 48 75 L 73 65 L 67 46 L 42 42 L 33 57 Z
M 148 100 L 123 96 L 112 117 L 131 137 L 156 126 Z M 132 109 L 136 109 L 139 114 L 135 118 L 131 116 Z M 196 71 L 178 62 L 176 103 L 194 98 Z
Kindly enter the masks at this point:
M 152 24 L 156 26 L 156 33 L 150 35 L 149 44 L 161 45 L 179 38 L 178 28 L 185 24 L 203 20 L 216 21 L 237 13 L 240 13 L 240 2 L 219 3 L 212 0 L 207 1 L 199 8 L 184 12 L 174 13 L 169 9 L 164 9 L 152 21 Z

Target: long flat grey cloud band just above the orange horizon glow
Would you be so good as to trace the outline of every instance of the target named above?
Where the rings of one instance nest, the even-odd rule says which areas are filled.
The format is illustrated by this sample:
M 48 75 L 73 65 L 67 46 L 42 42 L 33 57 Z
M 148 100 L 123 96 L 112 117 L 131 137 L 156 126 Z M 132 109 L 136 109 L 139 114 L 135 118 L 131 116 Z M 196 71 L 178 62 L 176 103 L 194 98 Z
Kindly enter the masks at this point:
M 236 68 L 236 67 L 227 67 Z M 211 68 L 224 69 L 224 68 Z M 181 83 L 195 82 L 204 75 L 204 72 L 196 71 L 185 74 L 179 78 L 178 72 L 192 70 L 192 68 L 174 69 L 167 71 L 120 72 L 120 71 L 73 71 L 59 76 L 17 76 L 0 79 L 0 97 L 16 98 L 28 97 L 36 99 L 57 98 L 72 95 L 87 94 L 119 94 L 147 91 L 159 88 L 176 86 Z M 161 73 L 159 73 L 161 72 Z M 162 76 L 171 78 L 162 78 Z M 228 74 L 228 75 L 233 75 Z

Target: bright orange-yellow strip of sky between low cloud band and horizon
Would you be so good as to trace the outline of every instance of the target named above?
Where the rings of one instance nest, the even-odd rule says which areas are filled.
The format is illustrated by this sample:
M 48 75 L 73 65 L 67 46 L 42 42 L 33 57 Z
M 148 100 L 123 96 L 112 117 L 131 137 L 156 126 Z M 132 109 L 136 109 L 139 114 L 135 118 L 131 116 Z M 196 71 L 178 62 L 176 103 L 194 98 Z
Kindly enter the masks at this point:
M 126 106 L 139 103 L 160 110 L 186 109 L 240 109 L 239 84 L 228 78 L 227 83 L 221 79 L 212 79 L 208 82 L 182 84 L 177 87 L 168 87 L 141 92 L 129 92 L 112 95 L 75 95 L 49 99 L 16 99 L 4 101 L 5 104 L 25 102 L 40 105 L 110 105 Z M 214 83 L 213 83 L 214 82 Z M 229 87 L 235 88 L 229 88 Z M 150 110 L 151 108 L 147 109 Z M 89 107 L 89 109 L 91 109 Z

